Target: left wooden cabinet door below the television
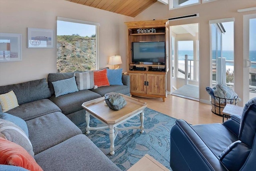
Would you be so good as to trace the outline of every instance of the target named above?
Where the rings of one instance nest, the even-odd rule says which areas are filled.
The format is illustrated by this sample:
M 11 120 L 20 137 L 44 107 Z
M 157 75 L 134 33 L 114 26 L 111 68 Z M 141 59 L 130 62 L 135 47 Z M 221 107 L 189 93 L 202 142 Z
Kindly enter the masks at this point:
M 146 94 L 146 74 L 141 73 L 129 73 L 130 76 L 130 92 Z

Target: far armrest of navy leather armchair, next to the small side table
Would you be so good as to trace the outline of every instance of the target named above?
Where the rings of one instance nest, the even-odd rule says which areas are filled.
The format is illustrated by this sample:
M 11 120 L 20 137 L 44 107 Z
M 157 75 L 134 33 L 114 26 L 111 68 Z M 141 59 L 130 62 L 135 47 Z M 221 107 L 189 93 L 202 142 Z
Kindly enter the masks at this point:
M 232 131 L 236 136 L 239 134 L 240 129 L 240 115 L 231 115 L 231 119 L 226 120 L 223 125 Z

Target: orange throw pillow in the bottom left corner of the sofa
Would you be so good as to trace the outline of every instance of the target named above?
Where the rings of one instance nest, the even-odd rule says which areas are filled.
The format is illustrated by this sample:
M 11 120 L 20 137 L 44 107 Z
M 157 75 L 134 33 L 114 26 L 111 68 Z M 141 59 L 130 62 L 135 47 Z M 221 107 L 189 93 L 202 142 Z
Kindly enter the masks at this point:
M 42 171 L 35 159 L 20 145 L 0 137 L 0 164 L 20 166 L 30 171 Z

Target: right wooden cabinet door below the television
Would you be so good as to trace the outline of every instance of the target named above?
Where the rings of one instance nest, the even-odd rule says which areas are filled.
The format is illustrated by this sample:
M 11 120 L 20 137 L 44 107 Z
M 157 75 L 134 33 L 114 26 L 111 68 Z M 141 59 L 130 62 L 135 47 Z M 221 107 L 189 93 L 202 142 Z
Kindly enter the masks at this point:
M 166 75 L 165 74 L 147 74 L 147 94 L 166 95 Z

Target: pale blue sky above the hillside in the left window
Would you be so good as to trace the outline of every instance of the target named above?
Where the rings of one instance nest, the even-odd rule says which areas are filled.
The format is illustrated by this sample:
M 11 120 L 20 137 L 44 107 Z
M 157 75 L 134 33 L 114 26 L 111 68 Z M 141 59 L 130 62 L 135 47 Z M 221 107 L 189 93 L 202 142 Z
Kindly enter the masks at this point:
M 79 34 L 80 36 L 92 36 L 96 33 L 96 26 L 74 22 L 57 21 L 57 35 Z

